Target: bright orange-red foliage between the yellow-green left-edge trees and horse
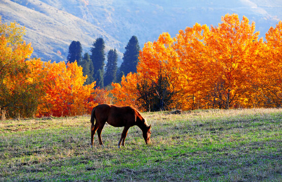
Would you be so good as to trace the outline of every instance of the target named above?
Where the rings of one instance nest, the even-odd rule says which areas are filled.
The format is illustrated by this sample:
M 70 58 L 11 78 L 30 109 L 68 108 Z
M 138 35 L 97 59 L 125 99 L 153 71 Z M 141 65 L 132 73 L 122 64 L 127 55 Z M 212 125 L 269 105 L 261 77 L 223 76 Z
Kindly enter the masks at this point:
M 90 113 L 97 105 L 93 92 L 95 82 L 83 85 L 86 76 L 82 75 L 82 67 L 74 63 L 46 62 L 42 69 L 44 90 L 46 95 L 38 107 L 37 116 L 75 116 Z

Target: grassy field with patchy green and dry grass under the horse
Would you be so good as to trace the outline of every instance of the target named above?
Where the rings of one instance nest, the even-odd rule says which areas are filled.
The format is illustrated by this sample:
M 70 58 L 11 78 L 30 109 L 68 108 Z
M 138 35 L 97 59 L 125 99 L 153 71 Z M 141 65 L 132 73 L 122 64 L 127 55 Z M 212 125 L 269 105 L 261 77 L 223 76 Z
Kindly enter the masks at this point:
M 0 121 L 0 181 L 282 181 L 282 109 L 142 113 L 151 144 L 90 117 Z

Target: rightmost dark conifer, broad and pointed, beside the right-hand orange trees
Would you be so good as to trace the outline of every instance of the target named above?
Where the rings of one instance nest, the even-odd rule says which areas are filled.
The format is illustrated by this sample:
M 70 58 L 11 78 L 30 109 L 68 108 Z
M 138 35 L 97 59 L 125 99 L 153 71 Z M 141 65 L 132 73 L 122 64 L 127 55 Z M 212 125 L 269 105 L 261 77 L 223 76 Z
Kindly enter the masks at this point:
M 140 47 L 136 36 L 131 37 L 125 49 L 126 52 L 123 54 L 123 62 L 120 65 L 120 70 L 127 75 L 129 72 L 136 72 L 136 67 L 139 62 Z

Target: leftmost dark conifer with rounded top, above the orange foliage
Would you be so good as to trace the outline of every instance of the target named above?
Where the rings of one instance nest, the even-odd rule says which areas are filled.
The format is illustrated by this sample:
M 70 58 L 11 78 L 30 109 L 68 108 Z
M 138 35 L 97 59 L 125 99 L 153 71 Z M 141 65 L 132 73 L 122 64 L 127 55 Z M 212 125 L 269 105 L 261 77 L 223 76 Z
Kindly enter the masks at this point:
M 75 62 L 75 60 L 77 61 L 77 63 L 81 62 L 82 60 L 81 53 L 82 53 L 81 43 L 79 41 L 72 41 L 69 47 L 69 54 L 67 57 L 68 62 L 73 63 Z

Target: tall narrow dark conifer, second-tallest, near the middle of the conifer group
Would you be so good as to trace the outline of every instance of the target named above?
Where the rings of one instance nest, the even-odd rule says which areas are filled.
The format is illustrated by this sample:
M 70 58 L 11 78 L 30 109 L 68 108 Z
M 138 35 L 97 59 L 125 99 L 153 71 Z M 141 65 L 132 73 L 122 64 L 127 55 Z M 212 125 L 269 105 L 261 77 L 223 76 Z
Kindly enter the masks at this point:
M 103 38 L 97 38 L 96 41 L 93 42 L 93 47 L 91 48 L 91 61 L 94 67 L 94 79 L 97 81 L 97 86 L 103 87 L 99 83 L 104 83 L 104 65 L 105 65 L 105 42 Z M 100 73 L 98 74 L 98 70 Z

